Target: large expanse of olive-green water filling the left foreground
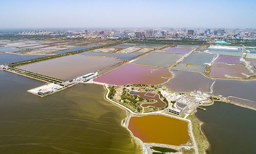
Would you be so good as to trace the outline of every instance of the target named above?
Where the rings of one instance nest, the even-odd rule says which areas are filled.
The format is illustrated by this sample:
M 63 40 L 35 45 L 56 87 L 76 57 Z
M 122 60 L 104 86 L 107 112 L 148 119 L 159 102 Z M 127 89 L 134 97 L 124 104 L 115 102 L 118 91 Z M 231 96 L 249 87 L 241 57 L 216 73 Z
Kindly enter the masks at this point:
M 120 123 L 125 112 L 100 85 L 78 84 L 41 98 L 44 84 L 0 71 L 0 153 L 141 153 Z

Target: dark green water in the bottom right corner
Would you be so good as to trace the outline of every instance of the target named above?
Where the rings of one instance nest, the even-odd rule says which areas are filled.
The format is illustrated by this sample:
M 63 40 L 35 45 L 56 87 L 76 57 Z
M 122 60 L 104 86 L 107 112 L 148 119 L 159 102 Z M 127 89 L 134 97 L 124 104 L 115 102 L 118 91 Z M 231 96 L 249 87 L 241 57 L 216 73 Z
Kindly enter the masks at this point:
M 202 131 L 210 143 L 209 154 L 255 153 L 256 111 L 224 102 L 198 109 Z

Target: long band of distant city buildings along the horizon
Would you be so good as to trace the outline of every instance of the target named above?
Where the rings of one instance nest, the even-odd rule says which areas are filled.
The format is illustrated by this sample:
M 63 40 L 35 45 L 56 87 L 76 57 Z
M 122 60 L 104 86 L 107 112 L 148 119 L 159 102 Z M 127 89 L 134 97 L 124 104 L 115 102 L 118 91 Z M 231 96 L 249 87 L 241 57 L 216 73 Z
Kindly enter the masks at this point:
M 96 39 L 116 39 L 127 37 L 133 39 L 160 39 L 160 40 L 180 40 L 192 38 L 200 40 L 230 40 L 247 39 L 256 40 L 255 29 L 98 29 L 98 30 L 59 30 L 50 31 L 24 31 L 19 35 L 43 35 L 43 36 L 67 36 L 69 38 L 96 38 Z

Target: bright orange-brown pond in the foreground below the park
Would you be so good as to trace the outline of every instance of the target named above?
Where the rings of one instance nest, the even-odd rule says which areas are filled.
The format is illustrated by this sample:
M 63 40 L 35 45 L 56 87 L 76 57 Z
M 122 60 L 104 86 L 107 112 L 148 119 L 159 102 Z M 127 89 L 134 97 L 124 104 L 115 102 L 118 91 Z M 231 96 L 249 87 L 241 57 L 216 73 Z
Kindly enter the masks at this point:
M 132 117 L 128 128 L 145 143 L 181 145 L 189 137 L 187 122 L 162 115 Z

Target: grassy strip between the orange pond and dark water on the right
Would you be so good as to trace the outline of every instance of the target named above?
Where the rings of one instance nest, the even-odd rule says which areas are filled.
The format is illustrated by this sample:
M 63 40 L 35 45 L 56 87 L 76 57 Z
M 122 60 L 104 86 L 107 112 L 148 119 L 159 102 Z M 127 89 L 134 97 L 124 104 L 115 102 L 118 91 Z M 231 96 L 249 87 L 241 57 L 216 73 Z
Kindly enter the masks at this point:
M 197 142 L 199 153 L 205 153 L 205 149 L 208 148 L 209 142 L 207 141 L 204 134 L 202 134 L 201 131 L 200 131 L 201 121 L 199 121 L 197 119 L 195 114 L 191 115 L 191 116 L 188 116 L 187 119 L 191 120 L 191 122 L 192 122 L 193 134 L 194 134 L 196 142 Z

